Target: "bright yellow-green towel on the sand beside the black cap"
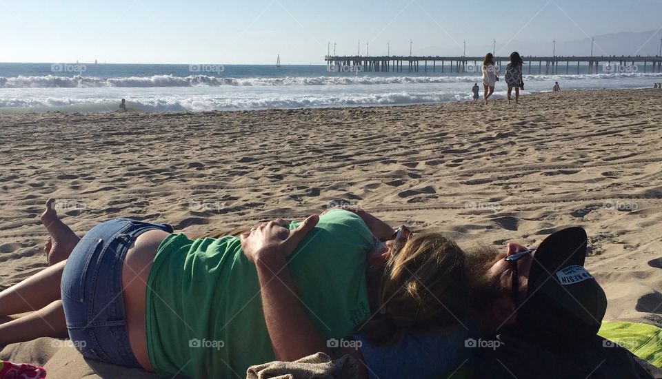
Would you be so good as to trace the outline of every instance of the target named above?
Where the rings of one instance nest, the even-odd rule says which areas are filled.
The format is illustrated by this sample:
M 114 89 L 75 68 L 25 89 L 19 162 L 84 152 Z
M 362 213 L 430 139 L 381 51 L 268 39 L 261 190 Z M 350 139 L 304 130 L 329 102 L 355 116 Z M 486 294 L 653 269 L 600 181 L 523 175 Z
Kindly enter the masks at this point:
M 662 329 L 626 321 L 605 321 L 598 334 L 662 369 Z

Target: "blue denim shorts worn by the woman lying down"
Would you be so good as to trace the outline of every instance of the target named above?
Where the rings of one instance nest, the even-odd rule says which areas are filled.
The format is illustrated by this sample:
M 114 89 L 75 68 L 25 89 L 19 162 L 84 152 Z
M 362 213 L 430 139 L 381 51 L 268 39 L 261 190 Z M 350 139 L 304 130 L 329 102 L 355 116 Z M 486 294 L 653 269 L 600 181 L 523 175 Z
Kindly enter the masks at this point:
M 135 238 L 150 229 L 173 232 L 170 225 L 116 218 L 90 229 L 69 256 L 62 305 L 69 337 L 85 358 L 141 367 L 126 329 L 122 265 Z

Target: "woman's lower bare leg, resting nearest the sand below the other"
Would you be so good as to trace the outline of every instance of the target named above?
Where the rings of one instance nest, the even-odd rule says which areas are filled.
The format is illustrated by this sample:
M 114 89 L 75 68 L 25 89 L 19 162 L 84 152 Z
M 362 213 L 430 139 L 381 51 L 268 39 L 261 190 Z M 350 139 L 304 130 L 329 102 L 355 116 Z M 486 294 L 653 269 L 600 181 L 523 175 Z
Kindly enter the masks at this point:
M 0 346 L 39 337 L 66 338 L 67 336 L 62 300 L 54 301 L 27 316 L 0 325 Z

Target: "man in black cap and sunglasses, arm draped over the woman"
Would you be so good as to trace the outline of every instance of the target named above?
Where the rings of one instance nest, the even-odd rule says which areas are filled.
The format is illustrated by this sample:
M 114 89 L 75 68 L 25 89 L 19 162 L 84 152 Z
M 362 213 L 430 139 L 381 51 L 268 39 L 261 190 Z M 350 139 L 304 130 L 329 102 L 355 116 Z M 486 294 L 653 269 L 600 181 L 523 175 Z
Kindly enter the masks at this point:
M 466 299 L 470 309 L 457 325 L 421 333 L 381 319 L 367 325 L 377 328 L 363 328 L 349 337 L 354 344 L 335 351 L 323 345 L 298 300 L 285 258 L 293 247 L 281 243 L 286 235 L 285 229 L 259 229 L 243 246 L 245 254 L 261 261 L 261 298 L 265 309 L 271 309 L 270 338 L 274 348 L 283 351 L 281 360 L 319 351 L 336 357 L 349 354 L 363 364 L 359 378 L 444 378 L 450 374 L 511 378 L 514 372 L 518 378 L 657 378 L 649 373 L 662 374 L 596 335 L 607 300 L 583 268 L 588 238 L 581 228 L 552 234 L 534 250 L 508 243 L 503 254 L 485 247 L 470 252 L 463 283 L 471 289 L 471 298 Z M 399 303 L 386 300 L 380 307 L 399 307 Z M 379 312 L 374 318 L 379 320 Z M 399 331 L 404 334 L 394 338 Z M 501 334 L 499 339 L 496 334 Z M 465 365 L 469 359 L 471 364 Z

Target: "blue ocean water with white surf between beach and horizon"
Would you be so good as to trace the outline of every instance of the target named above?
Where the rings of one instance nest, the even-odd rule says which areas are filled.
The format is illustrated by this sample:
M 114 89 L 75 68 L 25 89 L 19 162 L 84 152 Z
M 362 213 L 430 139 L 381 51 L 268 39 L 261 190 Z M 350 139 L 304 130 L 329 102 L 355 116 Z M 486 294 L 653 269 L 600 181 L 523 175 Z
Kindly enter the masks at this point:
M 503 73 L 501 68 L 501 72 Z M 524 68 L 525 92 L 652 88 L 662 74 L 621 68 L 588 74 L 583 65 L 559 65 L 558 74 Z M 114 112 L 121 99 L 148 112 L 259 110 L 270 108 L 405 105 L 467 101 L 481 86 L 480 68 L 468 72 L 329 71 L 326 65 L 153 65 L 105 63 L 0 63 L 0 112 Z M 502 74 L 503 76 L 503 74 Z M 495 96 L 504 97 L 503 81 Z

